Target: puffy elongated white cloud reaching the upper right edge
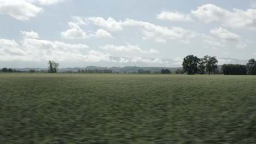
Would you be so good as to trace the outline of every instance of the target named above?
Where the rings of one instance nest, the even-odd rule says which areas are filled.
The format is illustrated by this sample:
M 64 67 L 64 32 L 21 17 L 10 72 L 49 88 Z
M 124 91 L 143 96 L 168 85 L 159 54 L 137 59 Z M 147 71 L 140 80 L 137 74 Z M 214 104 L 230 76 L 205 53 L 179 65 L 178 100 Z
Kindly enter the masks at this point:
M 198 7 L 197 10 L 192 10 L 191 14 L 207 23 L 220 21 L 226 27 L 256 30 L 256 9 L 232 9 L 229 11 L 213 4 L 205 4 Z

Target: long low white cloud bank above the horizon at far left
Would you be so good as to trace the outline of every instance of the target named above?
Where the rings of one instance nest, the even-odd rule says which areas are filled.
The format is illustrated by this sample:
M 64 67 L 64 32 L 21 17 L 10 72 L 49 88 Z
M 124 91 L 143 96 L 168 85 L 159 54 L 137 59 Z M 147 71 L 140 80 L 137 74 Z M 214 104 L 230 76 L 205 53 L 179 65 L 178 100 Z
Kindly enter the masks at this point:
M 30 35 L 31 32 L 21 34 Z M 0 39 L 0 61 L 109 61 L 108 53 L 89 51 L 83 54 L 87 49 L 88 46 L 84 44 L 67 44 L 29 37 L 24 37 L 20 43 Z

